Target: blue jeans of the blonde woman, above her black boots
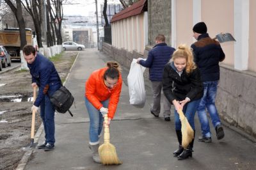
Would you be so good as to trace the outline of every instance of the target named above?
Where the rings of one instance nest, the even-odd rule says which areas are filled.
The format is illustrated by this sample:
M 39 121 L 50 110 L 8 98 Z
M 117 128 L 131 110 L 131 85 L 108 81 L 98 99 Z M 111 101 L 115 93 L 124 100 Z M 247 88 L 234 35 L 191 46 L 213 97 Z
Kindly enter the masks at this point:
M 195 118 L 195 112 L 199 102 L 200 102 L 200 99 L 194 100 L 192 102 L 188 102 L 188 104 L 184 105 L 182 110 L 189 122 L 189 125 L 193 128 L 193 130 L 195 130 L 194 118 Z M 175 130 L 181 130 L 180 116 L 176 110 L 174 111 L 174 116 L 175 116 Z

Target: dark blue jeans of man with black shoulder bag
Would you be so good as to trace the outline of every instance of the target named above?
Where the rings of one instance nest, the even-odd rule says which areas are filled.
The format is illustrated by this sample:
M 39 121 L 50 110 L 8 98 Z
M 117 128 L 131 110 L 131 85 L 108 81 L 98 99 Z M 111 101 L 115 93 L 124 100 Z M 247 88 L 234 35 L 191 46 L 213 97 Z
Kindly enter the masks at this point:
M 55 143 L 55 123 L 54 123 L 54 113 L 55 109 L 51 103 L 49 96 L 53 95 L 56 90 L 48 90 L 48 95 L 42 99 L 40 104 L 40 116 L 44 124 L 45 132 L 45 143 L 54 144 Z

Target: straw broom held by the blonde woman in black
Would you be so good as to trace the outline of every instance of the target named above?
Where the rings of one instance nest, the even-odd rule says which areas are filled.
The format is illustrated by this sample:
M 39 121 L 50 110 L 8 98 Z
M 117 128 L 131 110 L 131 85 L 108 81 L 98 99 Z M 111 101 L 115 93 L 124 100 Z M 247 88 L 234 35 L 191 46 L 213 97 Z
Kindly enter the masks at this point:
M 188 144 L 194 139 L 194 130 L 189 125 L 189 122 L 181 109 L 178 111 L 178 113 L 181 121 L 182 147 L 187 148 Z

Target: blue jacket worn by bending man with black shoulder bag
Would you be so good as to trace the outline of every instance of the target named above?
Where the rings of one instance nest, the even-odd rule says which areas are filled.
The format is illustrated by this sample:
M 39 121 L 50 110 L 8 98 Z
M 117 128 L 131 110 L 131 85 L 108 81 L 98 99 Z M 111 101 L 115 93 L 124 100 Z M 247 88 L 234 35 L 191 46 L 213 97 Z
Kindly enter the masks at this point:
M 56 91 L 61 87 L 61 80 L 53 63 L 42 54 L 37 53 L 35 61 L 32 64 L 28 64 L 28 68 L 32 75 L 32 82 L 36 82 L 39 87 L 38 96 L 34 103 L 36 107 L 39 107 L 45 97 L 45 86 L 49 85 L 48 91 Z

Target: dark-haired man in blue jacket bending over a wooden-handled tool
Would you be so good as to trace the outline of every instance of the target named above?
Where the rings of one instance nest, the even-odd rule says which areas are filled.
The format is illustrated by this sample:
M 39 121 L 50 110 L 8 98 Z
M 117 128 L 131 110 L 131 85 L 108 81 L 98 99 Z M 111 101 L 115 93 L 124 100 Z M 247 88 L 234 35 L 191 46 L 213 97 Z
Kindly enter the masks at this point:
M 24 59 L 28 63 L 28 68 L 32 76 L 31 86 L 39 88 L 38 97 L 31 107 L 31 111 L 38 111 L 40 106 L 40 116 L 44 123 L 45 142 L 38 146 L 38 149 L 50 151 L 54 149 L 55 125 L 54 125 L 54 106 L 50 97 L 61 86 L 61 80 L 55 66 L 49 59 L 36 52 L 35 47 L 26 45 L 23 49 Z

